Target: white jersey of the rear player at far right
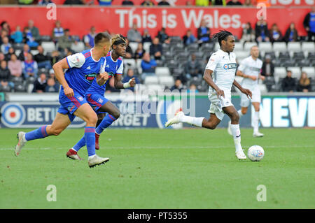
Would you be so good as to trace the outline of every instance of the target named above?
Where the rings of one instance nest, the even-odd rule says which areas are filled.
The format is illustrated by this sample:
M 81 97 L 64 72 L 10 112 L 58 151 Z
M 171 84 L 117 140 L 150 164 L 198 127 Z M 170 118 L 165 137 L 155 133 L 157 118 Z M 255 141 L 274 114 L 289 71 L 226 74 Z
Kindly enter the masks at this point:
M 260 59 L 253 59 L 253 57 L 246 57 L 241 61 L 238 71 L 245 73 L 246 75 L 254 75 L 257 77 L 256 80 L 250 78 L 243 78 L 241 81 L 241 87 L 254 89 L 258 85 L 258 77 L 262 68 L 262 61 Z

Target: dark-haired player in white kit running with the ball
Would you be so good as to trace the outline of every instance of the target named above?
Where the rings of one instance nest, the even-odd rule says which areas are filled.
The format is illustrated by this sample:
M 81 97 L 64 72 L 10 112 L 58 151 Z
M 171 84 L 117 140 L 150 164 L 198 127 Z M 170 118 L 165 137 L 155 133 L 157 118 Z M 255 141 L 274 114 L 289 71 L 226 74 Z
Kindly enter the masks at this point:
M 204 71 L 204 80 L 209 85 L 209 100 L 211 101 L 207 120 L 204 117 L 186 116 L 182 111 L 165 123 L 165 127 L 179 122 L 192 124 L 196 127 L 216 129 L 224 115 L 231 119 L 231 130 L 235 143 L 235 155 L 238 159 L 246 159 L 246 155 L 241 148 L 241 131 L 239 130 L 239 113 L 231 102 L 231 87 L 235 85 L 243 94 L 251 97 L 251 91 L 244 89 L 235 80 L 237 69 L 236 57 L 233 52 L 235 48 L 235 38 L 229 31 L 223 30 L 214 34 L 214 39 L 218 39 L 220 50 L 214 52 Z

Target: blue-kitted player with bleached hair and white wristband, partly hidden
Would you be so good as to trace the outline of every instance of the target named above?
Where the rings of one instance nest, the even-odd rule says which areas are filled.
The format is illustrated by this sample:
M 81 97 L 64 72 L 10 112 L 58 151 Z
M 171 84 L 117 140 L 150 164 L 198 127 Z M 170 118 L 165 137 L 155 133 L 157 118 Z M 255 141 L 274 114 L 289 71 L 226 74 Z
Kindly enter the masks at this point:
M 116 89 L 125 89 L 129 87 L 134 87 L 136 84 L 134 78 L 130 79 L 129 82 L 123 83 L 122 74 L 123 74 L 123 59 L 120 57 L 125 56 L 127 48 L 127 41 L 124 36 L 117 34 L 112 38 L 112 50 L 106 55 L 106 68 L 105 71 L 109 73 L 109 78 L 115 78 L 115 87 Z M 104 97 L 106 88 L 106 80 L 103 80 L 101 85 L 95 80 L 92 82 L 91 87 L 87 90 L 85 97 L 87 102 L 90 103 L 90 106 L 97 113 L 108 113 L 106 117 L 102 114 L 99 114 L 102 122 L 99 123 L 95 131 L 95 148 L 99 150 L 99 135 L 102 134 L 102 131 L 109 127 L 115 120 L 120 117 L 120 111 L 116 106 L 111 103 L 108 99 Z M 66 155 L 71 159 L 80 159 L 77 152 L 85 145 L 85 138 L 81 138 L 76 145 L 71 148 Z

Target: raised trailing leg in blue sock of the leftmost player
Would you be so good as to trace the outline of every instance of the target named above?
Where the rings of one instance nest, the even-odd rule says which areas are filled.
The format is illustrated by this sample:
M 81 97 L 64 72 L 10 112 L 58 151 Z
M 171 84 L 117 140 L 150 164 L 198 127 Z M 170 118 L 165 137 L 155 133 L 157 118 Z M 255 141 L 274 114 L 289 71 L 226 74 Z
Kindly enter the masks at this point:
M 39 127 L 27 133 L 20 131 L 18 133 L 18 145 L 15 146 L 15 155 L 18 156 L 27 141 L 32 141 L 38 138 L 45 138 L 48 136 L 58 136 L 71 123 L 68 115 L 57 113 L 55 120 L 51 125 Z

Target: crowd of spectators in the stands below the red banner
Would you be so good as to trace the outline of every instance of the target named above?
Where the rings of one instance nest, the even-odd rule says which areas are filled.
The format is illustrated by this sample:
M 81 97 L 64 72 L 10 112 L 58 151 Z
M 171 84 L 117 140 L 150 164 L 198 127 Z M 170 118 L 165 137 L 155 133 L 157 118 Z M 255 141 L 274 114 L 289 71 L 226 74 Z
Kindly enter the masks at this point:
M 68 0 L 67 0 L 68 1 Z M 47 1 L 45 1 L 47 2 Z M 127 2 L 127 1 L 124 1 Z M 150 1 L 144 1 L 148 3 Z M 166 1 L 160 1 L 164 3 Z M 233 0 L 235 2 L 235 0 Z M 315 42 L 315 7 L 304 17 L 304 28 L 307 36 L 298 36 L 294 22 L 290 24 L 285 34 L 279 31 L 276 23 L 269 24 L 263 18 L 256 24 L 244 24 L 242 36 L 237 39 L 237 45 L 243 48 L 246 43 L 312 43 Z M 106 30 L 110 33 L 109 30 Z M 1 22 L 0 27 L 0 92 L 58 92 L 59 84 L 55 79 L 52 65 L 67 55 L 80 52 L 94 45 L 95 27 L 84 36 L 71 35 L 71 30 L 62 27 L 56 21 L 50 36 L 41 36 L 40 30 L 32 20 L 26 27 L 17 26 L 11 29 L 9 22 Z M 236 37 L 236 36 L 235 36 Z M 208 86 L 202 81 L 202 73 L 209 60 L 211 52 L 216 50 L 216 43 L 211 38 L 211 30 L 207 21 L 202 20 L 197 28 L 197 36 L 188 29 L 185 36 L 169 36 L 162 28 L 156 36 L 151 36 L 147 29 L 141 34 L 137 24 L 127 31 L 127 53 L 125 55 L 125 78 L 136 78 L 137 83 L 148 85 L 157 75 L 158 68 L 167 68 L 172 79 L 165 82 L 165 89 L 195 89 L 206 92 Z M 53 43 L 53 50 L 47 49 L 47 44 Z M 51 48 L 50 48 L 51 49 Z M 249 51 L 247 52 L 249 55 Z M 247 55 L 247 56 L 248 56 Z M 302 50 L 294 52 L 275 52 L 269 50 L 260 55 L 263 61 L 262 75 L 268 91 L 310 92 L 315 90 L 315 73 L 303 71 L 294 73 L 290 67 L 315 66 L 315 52 L 305 55 Z M 285 69 L 286 75 L 276 78 L 276 69 Z M 278 71 L 279 69 L 277 69 Z M 314 75 L 314 77 L 313 77 Z M 151 78 L 148 78 L 151 77 Z M 311 77 L 311 78 L 310 78 Z M 156 78 L 155 78 L 156 79 Z M 153 83 L 157 83 L 153 81 Z M 161 85 L 162 86 L 162 85 Z M 109 92 L 117 92 L 113 82 L 109 81 Z M 133 90 L 133 89 L 132 89 Z

